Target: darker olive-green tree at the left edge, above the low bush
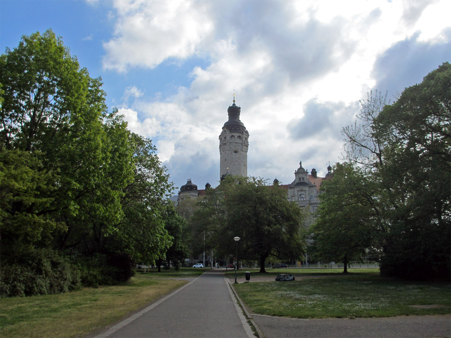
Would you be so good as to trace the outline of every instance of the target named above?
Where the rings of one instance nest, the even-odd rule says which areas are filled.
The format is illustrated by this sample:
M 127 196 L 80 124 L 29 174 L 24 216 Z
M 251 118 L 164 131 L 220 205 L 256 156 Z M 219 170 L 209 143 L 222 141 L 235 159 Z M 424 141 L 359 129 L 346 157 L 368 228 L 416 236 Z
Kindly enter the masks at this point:
M 0 253 L 3 263 L 14 264 L 33 247 L 51 243 L 51 234 L 63 228 L 39 213 L 53 199 L 46 197 L 57 179 L 27 151 L 0 151 Z

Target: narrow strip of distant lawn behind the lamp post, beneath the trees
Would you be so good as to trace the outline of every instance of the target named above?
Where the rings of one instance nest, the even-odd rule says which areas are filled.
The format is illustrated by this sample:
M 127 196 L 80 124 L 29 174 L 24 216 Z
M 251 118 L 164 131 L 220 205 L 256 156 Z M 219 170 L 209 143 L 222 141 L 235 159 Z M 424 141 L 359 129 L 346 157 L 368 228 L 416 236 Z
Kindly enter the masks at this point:
M 278 274 L 292 274 L 294 276 L 324 276 L 324 275 L 336 275 L 341 274 L 343 269 L 266 269 L 266 273 L 260 273 L 260 269 L 239 269 L 236 273 L 237 278 L 244 278 L 244 273 L 249 271 L 252 277 L 276 277 Z M 379 269 L 348 269 L 350 274 L 368 274 L 368 273 L 379 273 Z M 235 270 L 228 270 L 225 273 L 227 278 L 235 278 Z

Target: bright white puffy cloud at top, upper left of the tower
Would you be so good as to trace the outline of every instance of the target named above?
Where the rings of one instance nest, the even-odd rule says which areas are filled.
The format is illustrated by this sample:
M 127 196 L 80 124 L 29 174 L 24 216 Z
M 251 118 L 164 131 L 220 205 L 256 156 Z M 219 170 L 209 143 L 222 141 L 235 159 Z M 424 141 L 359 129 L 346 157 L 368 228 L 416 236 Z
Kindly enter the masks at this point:
M 155 68 L 166 59 L 197 52 L 213 28 L 207 3 L 191 1 L 116 1 L 115 37 L 104 44 L 105 69 Z

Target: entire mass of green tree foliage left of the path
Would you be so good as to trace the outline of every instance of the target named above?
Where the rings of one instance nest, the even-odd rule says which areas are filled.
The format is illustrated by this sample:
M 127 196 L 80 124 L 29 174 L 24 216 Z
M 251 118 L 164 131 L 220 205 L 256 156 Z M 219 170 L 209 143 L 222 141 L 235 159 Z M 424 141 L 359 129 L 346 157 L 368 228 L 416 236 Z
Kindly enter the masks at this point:
M 0 56 L 0 83 L 2 266 L 39 250 L 100 257 L 98 271 L 164 256 L 173 185 L 152 141 L 108 112 L 101 78 L 47 30 Z

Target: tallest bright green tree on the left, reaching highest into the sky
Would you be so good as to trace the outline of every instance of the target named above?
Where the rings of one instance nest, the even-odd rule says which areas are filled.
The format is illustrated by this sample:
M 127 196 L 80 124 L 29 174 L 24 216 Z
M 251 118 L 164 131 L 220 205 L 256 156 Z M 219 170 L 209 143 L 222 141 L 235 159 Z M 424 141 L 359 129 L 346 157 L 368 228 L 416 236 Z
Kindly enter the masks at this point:
M 82 242 L 92 220 L 117 221 L 118 193 L 131 175 L 130 170 L 116 170 L 112 179 L 111 168 L 130 162 L 131 154 L 113 153 L 120 141 L 109 134 L 118 123 L 106 112 L 100 78 L 80 69 L 51 30 L 23 36 L 17 48 L 1 55 L 0 70 L 0 147 L 30 152 L 42 164 L 36 170 L 54 176 L 40 195 L 52 203 L 35 205 L 34 212 L 65 225 L 65 231 L 52 234 L 56 247 L 68 248 L 73 233 Z M 125 125 L 121 127 L 124 134 Z

